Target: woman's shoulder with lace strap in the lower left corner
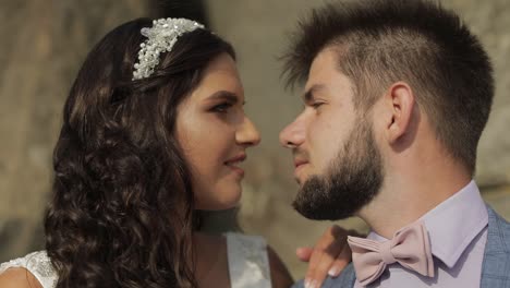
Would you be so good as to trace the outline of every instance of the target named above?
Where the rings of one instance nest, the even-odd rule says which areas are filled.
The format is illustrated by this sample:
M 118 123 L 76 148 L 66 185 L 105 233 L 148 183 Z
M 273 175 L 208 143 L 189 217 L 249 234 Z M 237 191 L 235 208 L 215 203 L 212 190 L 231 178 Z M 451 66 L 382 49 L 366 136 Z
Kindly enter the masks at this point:
M 57 275 L 46 251 L 0 264 L 0 287 L 53 287 Z

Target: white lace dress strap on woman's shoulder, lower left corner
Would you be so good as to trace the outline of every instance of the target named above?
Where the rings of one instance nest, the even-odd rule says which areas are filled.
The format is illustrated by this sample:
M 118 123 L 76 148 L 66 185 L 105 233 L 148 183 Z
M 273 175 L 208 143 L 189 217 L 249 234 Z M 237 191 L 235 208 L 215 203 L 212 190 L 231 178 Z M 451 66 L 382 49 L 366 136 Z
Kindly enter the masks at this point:
M 0 264 L 0 274 L 9 268 L 25 268 L 40 283 L 42 288 L 54 288 L 57 273 L 46 251 L 33 252 L 24 257 Z

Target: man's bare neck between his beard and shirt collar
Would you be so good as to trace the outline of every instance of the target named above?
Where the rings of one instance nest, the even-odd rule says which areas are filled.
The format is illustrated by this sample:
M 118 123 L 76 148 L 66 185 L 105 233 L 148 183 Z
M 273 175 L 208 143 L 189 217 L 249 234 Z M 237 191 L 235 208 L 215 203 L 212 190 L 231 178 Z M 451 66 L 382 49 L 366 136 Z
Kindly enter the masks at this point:
M 379 193 L 359 216 L 387 239 L 471 181 L 471 175 L 449 157 L 427 161 L 406 159 L 386 167 Z

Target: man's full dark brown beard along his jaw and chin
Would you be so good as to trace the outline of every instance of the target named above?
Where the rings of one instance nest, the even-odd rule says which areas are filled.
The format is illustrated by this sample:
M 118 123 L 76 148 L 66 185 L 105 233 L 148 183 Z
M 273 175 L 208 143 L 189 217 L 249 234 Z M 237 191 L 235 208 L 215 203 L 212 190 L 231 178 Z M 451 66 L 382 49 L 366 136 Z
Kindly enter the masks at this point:
M 362 120 L 325 176 L 312 176 L 292 206 L 304 217 L 338 220 L 352 216 L 378 193 L 384 169 L 372 127 Z

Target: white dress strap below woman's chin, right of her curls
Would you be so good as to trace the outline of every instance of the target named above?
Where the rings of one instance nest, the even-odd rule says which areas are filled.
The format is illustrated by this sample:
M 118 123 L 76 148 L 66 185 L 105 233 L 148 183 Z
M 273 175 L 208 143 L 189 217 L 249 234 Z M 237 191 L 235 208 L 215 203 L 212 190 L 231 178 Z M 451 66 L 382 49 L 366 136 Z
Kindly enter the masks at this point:
M 270 288 L 266 240 L 258 236 L 226 233 L 232 288 Z

